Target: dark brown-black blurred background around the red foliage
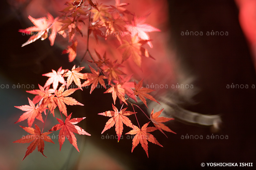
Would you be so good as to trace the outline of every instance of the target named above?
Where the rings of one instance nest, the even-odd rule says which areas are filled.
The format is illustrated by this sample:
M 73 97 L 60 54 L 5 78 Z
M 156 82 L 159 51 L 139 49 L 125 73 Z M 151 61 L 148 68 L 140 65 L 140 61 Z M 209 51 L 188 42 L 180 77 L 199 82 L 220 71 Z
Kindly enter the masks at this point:
M 132 140 L 106 139 L 115 135 L 114 128 L 101 135 L 108 118 L 97 115 L 111 110 L 111 95 L 103 94 L 104 89 L 75 92 L 72 96 L 82 106 L 68 107 L 74 117 L 86 117 L 79 123 L 92 136 L 77 137 L 80 153 L 64 142 L 61 152 L 57 139 L 54 144 L 45 142 L 44 158 L 34 151 L 23 158 L 28 144 L 13 144 L 27 135 L 18 125 L 26 126 L 27 121 L 13 124 L 22 111 L 13 107 L 27 105 L 33 95 L 26 90 L 14 88 L 18 84 L 44 85 L 47 80 L 41 75 L 51 69 L 72 68 L 58 46 L 49 41 L 36 41 L 21 48 L 27 36 L 21 36 L 20 28 L 26 28 L 25 19 L 19 10 L 10 8 L 7 2 L 1 5 L 1 66 L 0 66 L 0 168 L 1 169 L 207 169 L 201 163 L 253 163 L 256 166 L 256 85 L 255 68 L 251 54 L 238 21 L 238 9 L 234 1 L 178 1 L 170 0 L 170 49 L 175 49 L 180 67 L 196 77 L 193 85 L 199 92 L 193 97 L 196 104 L 184 108 L 206 115 L 220 114 L 220 130 L 213 133 L 209 127 L 172 121 L 168 126 L 177 134 L 152 133 L 164 147 L 148 144 L 149 158 L 140 144 L 131 153 Z M 186 31 L 203 32 L 203 35 L 181 35 Z M 228 35 L 206 35 L 212 30 L 227 31 Z M 227 88 L 227 85 L 248 85 L 248 88 Z M 9 88 L 6 88 L 9 85 Z M 3 87 L 3 88 L 2 88 Z M 118 103 L 118 102 L 117 102 Z M 23 113 L 23 112 L 22 112 Z M 52 116 L 51 116 L 52 117 Z M 140 117 L 139 117 L 140 118 Z M 48 119 L 48 118 L 47 118 Z M 130 118 L 131 120 L 133 118 Z M 143 120 L 143 119 L 142 119 Z M 132 120 L 134 121 L 134 120 Z M 36 121 L 36 123 L 39 123 Z M 56 119 L 47 120 L 51 128 Z M 144 122 L 146 123 L 146 122 Z M 45 128 L 46 128 L 45 127 Z M 46 128 L 46 129 L 47 129 Z M 130 128 L 124 127 L 124 132 Z M 55 136 L 58 132 L 53 132 Z M 52 135 L 51 134 L 51 135 Z M 182 135 L 203 136 L 203 139 L 182 139 Z M 207 135 L 223 135 L 228 139 L 207 139 Z M 124 136 L 125 138 L 126 136 Z M 104 139 L 102 139 L 104 138 Z M 37 149 L 36 149 L 37 150 Z M 218 168 L 218 167 L 214 167 Z M 228 168 L 228 167 L 226 167 Z M 253 167 L 231 167 L 232 169 L 253 169 Z

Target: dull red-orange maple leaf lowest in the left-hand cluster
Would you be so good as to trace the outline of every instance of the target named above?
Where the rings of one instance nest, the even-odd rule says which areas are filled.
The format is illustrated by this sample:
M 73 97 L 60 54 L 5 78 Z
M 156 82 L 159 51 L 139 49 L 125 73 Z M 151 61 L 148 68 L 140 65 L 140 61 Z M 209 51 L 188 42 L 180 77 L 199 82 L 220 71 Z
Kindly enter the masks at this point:
M 20 127 L 24 129 L 26 132 L 31 134 L 31 135 L 26 135 L 20 138 L 19 140 L 16 140 L 13 142 L 13 143 L 22 143 L 22 144 L 31 142 L 22 160 L 24 160 L 30 153 L 32 153 L 36 149 L 36 146 L 37 146 L 38 152 L 41 152 L 44 155 L 44 141 L 51 142 L 54 144 L 52 139 L 48 136 L 52 132 L 41 133 L 41 130 L 36 124 L 35 124 L 36 129 L 31 127 L 23 127 L 23 126 L 20 126 Z

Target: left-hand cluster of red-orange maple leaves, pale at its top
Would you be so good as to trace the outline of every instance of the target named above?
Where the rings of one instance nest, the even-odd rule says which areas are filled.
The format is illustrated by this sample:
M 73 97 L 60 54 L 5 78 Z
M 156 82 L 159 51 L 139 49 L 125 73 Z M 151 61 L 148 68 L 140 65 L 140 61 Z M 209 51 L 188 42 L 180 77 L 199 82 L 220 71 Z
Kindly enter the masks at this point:
M 25 131 L 29 132 L 30 134 L 32 134 L 32 135 L 24 136 L 17 141 L 14 141 L 14 143 L 29 143 L 32 141 L 32 143 L 28 146 L 28 150 L 27 150 L 24 158 L 27 157 L 31 152 L 33 152 L 35 150 L 36 145 L 37 145 L 38 151 L 44 155 L 44 153 L 43 153 L 44 141 L 42 139 L 44 139 L 47 142 L 52 142 L 52 140 L 49 138 L 49 136 L 47 136 L 48 134 L 50 134 L 52 132 L 41 133 L 39 127 L 36 124 L 35 124 L 36 129 L 33 129 L 31 127 L 35 121 L 35 118 L 42 122 L 45 122 L 49 112 L 54 117 L 55 116 L 54 109 L 56 107 L 59 108 L 60 113 L 62 113 L 63 115 L 66 116 L 66 120 L 64 122 L 62 114 L 61 114 L 62 120 L 57 118 L 57 120 L 60 124 L 54 125 L 52 127 L 52 129 L 50 129 L 49 131 L 60 130 L 60 133 L 58 136 L 60 149 L 61 149 L 62 144 L 65 141 L 65 138 L 67 137 L 70 144 L 72 144 L 79 152 L 77 144 L 76 144 L 76 137 L 75 137 L 74 133 L 77 133 L 80 135 L 91 136 L 89 133 L 85 132 L 84 129 L 80 128 L 79 126 L 74 125 L 74 124 L 80 122 L 81 120 L 85 119 L 85 117 L 73 118 L 70 120 L 72 113 L 68 115 L 67 107 L 66 107 L 66 105 L 84 106 L 82 103 L 76 101 L 72 97 L 68 97 L 70 94 L 74 93 L 76 90 L 79 90 L 79 88 L 69 88 L 68 89 L 69 85 L 73 81 L 75 82 L 75 84 L 78 87 L 80 87 L 81 90 L 83 90 L 81 88 L 80 79 L 87 79 L 86 73 L 80 73 L 80 71 L 83 68 L 84 67 L 75 68 L 75 65 L 74 65 L 74 67 L 70 71 L 70 70 L 63 70 L 60 67 L 57 72 L 55 70 L 52 70 L 52 72 L 50 72 L 50 73 L 43 74 L 43 76 L 49 77 L 48 80 L 46 81 L 44 87 L 41 85 L 38 85 L 39 86 L 38 90 L 27 91 L 28 93 L 36 95 L 33 98 L 33 100 L 30 100 L 28 98 L 29 106 L 28 105 L 15 106 L 16 108 L 19 108 L 22 111 L 26 111 L 25 113 L 23 113 L 20 116 L 18 121 L 15 123 L 18 123 L 18 122 L 28 119 L 28 127 L 23 127 L 23 126 L 20 126 L 20 127 L 23 128 Z M 68 77 L 66 81 L 64 79 L 65 77 Z M 62 85 L 57 90 L 59 83 Z M 50 85 L 52 85 L 52 89 L 50 88 Z M 46 113 L 46 111 L 47 111 L 47 113 Z M 43 121 L 43 117 L 42 117 L 43 112 L 46 115 L 44 121 Z M 43 126 L 43 129 L 44 129 L 44 126 Z M 42 131 L 43 131 L 43 129 L 42 129 Z M 42 137 L 42 138 L 40 138 L 40 137 Z

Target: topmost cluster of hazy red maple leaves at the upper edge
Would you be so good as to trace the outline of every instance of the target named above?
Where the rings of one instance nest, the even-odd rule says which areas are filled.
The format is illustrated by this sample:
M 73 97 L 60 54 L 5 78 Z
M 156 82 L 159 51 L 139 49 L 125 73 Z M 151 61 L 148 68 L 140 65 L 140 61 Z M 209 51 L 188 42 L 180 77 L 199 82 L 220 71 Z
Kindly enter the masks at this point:
M 98 4 L 98 2 L 94 4 L 91 0 L 87 0 L 87 2 L 88 4 L 85 4 L 83 0 L 81 2 L 74 1 L 73 3 L 72 1 L 66 2 L 65 5 L 67 7 L 60 11 L 62 14 L 56 18 L 53 18 L 50 13 L 47 13 L 47 18 L 28 16 L 35 26 L 19 30 L 22 33 L 32 34 L 21 47 L 39 38 L 45 40 L 49 32 L 51 32 L 49 36 L 51 46 L 54 44 L 57 33 L 64 38 L 68 35 L 68 42 L 72 42 L 72 44 L 63 50 L 62 54 L 68 54 L 69 62 L 72 62 L 76 58 L 76 48 L 78 45 L 76 34 L 78 33 L 83 37 L 82 27 L 87 22 L 89 16 L 87 36 L 93 34 L 95 41 L 98 43 L 99 37 L 107 40 L 109 36 L 114 35 L 120 43 L 118 49 L 123 49 L 122 63 L 131 57 L 134 63 L 141 67 L 141 57 L 153 58 L 142 45 L 148 44 L 150 48 L 153 48 L 148 32 L 160 30 L 144 23 L 147 15 L 143 17 L 135 16 L 125 8 L 129 4 L 120 4 L 120 0 L 116 0 L 116 6 Z M 129 20 L 128 18 L 132 19 Z M 103 31 L 103 28 L 105 28 L 105 31 Z M 124 37 L 127 40 L 124 40 Z

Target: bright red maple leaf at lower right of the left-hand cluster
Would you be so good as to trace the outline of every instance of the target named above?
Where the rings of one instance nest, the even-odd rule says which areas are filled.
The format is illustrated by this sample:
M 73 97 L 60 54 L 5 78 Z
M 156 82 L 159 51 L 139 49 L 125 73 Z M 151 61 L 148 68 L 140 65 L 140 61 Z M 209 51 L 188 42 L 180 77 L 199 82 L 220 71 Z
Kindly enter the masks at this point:
M 76 148 L 76 150 L 79 152 L 77 144 L 76 144 L 76 137 L 75 137 L 74 133 L 77 133 L 79 135 L 88 135 L 88 136 L 91 136 L 91 135 L 89 133 L 87 133 L 86 131 L 84 131 L 84 129 L 80 128 L 79 126 L 74 125 L 74 124 L 77 124 L 78 122 L 80 122 L 81 120 L 84 120 L 85 117 L 74 118 L 74 119 L 70 120 L 71 115 L 72 115 L 72 113 L 70 115 L 68 115 L 68 117 L 65 120 L 65 123 L 61 119 L 57 118 L 57 120 L 60 124 L 54 125 L 52 127 L 52 129 L 50 129 L 48 131 L 56 131 L 56 130 L 60 129 L 60 133 L 59 133 L 60 150 L 61 150 L 62 144 L 65 141 L 65 138 L 67 137 L 70 144 L 72 144 Z

